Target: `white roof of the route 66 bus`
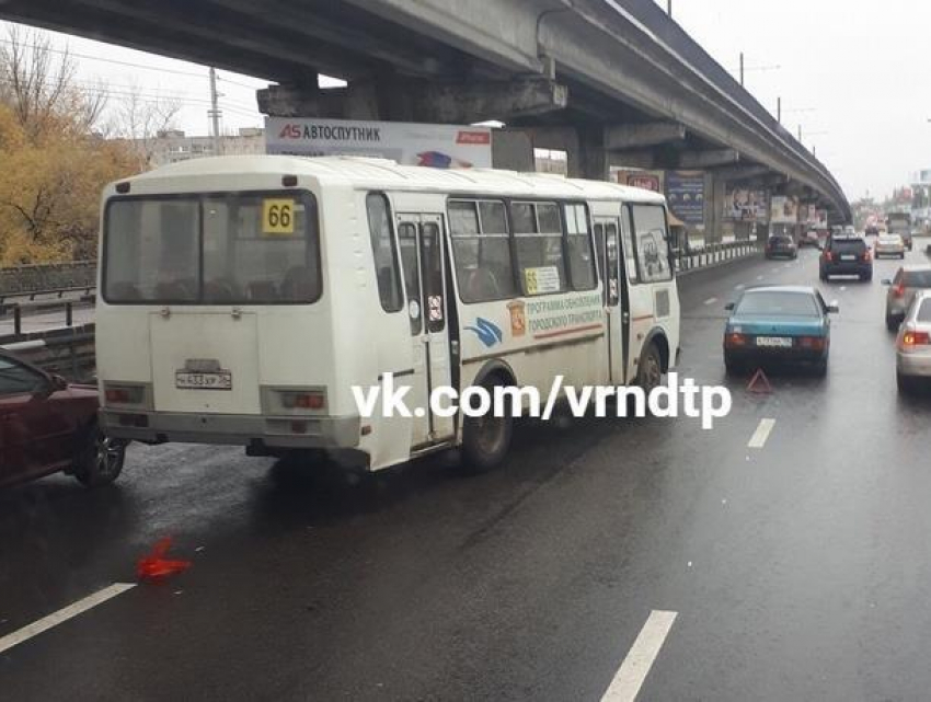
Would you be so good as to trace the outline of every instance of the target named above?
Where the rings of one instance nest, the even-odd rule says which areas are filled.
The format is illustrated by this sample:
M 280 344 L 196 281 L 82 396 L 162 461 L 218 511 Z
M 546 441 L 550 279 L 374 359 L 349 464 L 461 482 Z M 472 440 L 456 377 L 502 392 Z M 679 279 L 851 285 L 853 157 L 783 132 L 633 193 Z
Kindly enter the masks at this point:
M 433 169 L 399 165 L 387 159 L 359 157 L 225 156 L 191 159 L 126 179 L 158 191 L 159 181 L 206 179 L 228 181 L 245 174 L 307 175 L 321 184 L 349 184 L 366 189 L 462 192 L 483 195 L 549 196 L 585 199 L 622 199 L 663 203 L 651 191 L 609 183 L 542 173 L 518 173 L 493 169 Z M 125 180 L 123 181 L 125 182 Z M 111 185 L 108 193 L 113 192 Z M 206 185 L 206 184 L 205 184 Z M 207 185 L 207 189 L 209 189 Z

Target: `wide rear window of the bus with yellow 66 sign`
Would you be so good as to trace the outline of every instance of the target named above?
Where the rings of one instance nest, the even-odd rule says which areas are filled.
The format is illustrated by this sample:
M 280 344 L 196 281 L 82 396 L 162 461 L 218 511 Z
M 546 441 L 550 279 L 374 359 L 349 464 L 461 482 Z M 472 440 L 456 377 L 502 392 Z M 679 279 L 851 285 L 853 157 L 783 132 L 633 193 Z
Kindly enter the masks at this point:
M 110 303 L 309 303 L 322 291 L 309 193 L 115 198 L 103 264 Z

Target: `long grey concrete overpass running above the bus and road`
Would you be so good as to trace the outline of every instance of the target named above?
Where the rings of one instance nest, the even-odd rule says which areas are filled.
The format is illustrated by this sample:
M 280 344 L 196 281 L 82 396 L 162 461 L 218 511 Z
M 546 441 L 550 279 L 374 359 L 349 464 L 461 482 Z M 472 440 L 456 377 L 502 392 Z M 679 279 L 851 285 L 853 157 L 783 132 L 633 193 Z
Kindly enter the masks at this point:
M 273 116 L 499 119 L 497 164 L 538 147 L 587 177 L 708 170 L 712 230 L 727 182 L 850 219 L 827 168 L 653 0 L 0 0 L 0 18 L 267 78 Z

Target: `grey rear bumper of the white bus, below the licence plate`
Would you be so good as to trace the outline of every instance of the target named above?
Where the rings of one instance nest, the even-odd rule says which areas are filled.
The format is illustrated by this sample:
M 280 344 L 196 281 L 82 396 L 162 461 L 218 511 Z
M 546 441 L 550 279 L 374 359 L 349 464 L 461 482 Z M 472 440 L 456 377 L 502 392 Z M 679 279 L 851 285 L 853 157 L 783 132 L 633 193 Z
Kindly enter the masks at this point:
M 147 444 L 229 444 L 285 449 L 356 448 L 358 416 L 265 417 L 235 414 L 100 411 L 107 436 Z

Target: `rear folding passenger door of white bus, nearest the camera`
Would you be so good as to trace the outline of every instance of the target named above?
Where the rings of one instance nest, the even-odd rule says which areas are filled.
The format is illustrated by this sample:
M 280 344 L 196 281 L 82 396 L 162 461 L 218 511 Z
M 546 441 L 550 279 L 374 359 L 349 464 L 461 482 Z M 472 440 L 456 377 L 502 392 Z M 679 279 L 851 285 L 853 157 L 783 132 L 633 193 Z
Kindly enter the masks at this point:
M 406 404 L 414 413 L 411 446 L 416 449 L 455 433 L 453 417 L 435 415 L 429 406 L 433 390 L 451 384 L 442 217 L 399 215 L 398 241 L 413 344 L 414 373 Z

